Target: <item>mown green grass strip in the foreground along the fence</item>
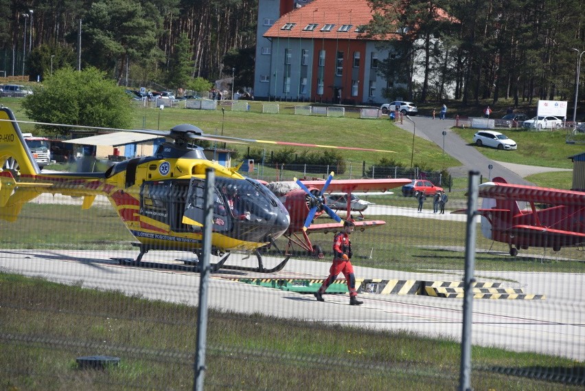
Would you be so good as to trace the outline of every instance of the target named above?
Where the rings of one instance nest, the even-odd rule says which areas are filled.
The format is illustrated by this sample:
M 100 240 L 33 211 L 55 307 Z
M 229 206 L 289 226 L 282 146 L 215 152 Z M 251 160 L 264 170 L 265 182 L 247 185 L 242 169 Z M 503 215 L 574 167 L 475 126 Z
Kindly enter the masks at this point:
M 0 303 L 3 390 L 192 389 L 195 307 L 5 273 Z M 452 390 L 459 381 L 460 347 L 448 340 L 220 311 L 210 311 L 207 331 L 206 390 Z M 76 357 L 95 354 L 121 364 L 78 368 Z M 474 390 L 578 389 L 490 368 L 583 371 L 497 348 L 476 346 L 472 358 Z

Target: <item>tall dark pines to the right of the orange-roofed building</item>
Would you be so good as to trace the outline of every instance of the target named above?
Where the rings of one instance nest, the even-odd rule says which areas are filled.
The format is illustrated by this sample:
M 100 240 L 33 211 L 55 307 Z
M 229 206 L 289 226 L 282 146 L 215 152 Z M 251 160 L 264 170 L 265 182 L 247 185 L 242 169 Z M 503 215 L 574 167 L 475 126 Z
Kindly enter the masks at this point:
M 413 80 L 418 59 L 424 79 L 409 81 L 406 91 L 418 101 L 441 100 L 451 85 L 451 98 L 463 104 L 574 102 L 577 56 L 585 49 L 581 0 L 368 1 L 375 15 L 367 34 L 398 38 L 387 43 L 397 55 L 382 62 L 382 73 Z

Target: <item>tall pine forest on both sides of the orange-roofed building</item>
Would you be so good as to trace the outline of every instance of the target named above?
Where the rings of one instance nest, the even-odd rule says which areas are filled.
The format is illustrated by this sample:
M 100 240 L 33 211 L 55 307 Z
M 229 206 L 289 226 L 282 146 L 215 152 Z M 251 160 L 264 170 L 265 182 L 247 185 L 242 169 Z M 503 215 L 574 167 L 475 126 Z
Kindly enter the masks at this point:
M 582 0 L 367 1 L 374 19 L 365 34 L 387 36 L 380 45 L 396 54 L 380 61 L 380 73 L 406 80 L 404 96 L 441 100 L 449 86 L 449 98 L 464 104 L 573 100 L 577 56 L 585 49 Z M 118 84 L 186 87 L 233 71 L 236 86 L 253 86 L 256 0 L 0 3 L 0 70 L 7 76 L 24 68 L 36 80 L 80 63 Z M 415 67 L 423 70 L 420 83 Z

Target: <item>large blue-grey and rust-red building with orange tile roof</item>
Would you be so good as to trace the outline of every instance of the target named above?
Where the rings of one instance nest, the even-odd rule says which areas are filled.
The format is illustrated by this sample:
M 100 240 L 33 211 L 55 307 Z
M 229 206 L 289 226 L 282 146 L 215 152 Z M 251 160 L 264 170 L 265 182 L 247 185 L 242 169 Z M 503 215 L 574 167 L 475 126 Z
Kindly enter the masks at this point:
M 380 49 L 380 41 L 400 36 L 365 36 L 363 26 L 372 14 L 367 0 L 259 0 L 254 95 L 336 104 L 385 102 L 383 89 L 406 83 L 378 74 L 378 61 L 395 55 L 391 45 Z M 440 10 L 439 17 L 448 15 Z

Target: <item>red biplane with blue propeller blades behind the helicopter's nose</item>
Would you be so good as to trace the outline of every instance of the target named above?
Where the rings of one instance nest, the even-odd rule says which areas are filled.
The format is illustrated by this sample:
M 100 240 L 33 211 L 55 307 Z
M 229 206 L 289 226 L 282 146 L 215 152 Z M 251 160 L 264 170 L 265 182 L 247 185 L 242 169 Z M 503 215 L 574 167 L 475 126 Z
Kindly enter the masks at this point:
M 339 181 L 332 179 L 333 173 L 331 173 L 326 181 L 301 181 L 295 179 L 295 181 L 272 182 L 266 185 L 279 197 L 290 215 L 290 225 L 283 235 L 288 239 L 285 250 L 286 254 L 288 254 L 290 247 L 297 245 L 306 252 L 322 258 L 323 251 L 321 247 L 319 245 L 312 245 L 308 234 L 311 232 L 336 232 L 341 229 L 341 218 L 327 205 L 324 196 L 325 193 L 347 193 L 346 219 L 348 219 L 352 208 L 352 192 L 386 192 L 387 190 L 411 182 L 410 179 L 342 179 Z M 334 222 L 322 224 L 312 223 L 323 212 L 334 219 Z M 358 230 L 363 231 L 368 227 L 384 225 L 386 222 L 382 220 L 355 221 L 355 224 Z

